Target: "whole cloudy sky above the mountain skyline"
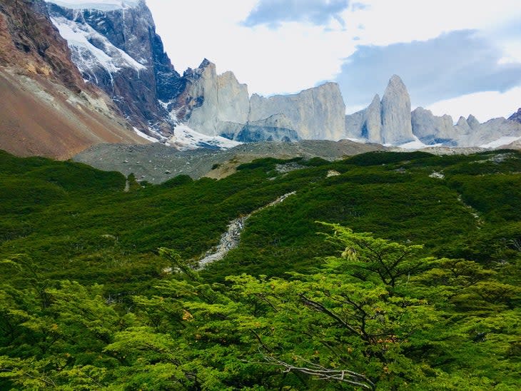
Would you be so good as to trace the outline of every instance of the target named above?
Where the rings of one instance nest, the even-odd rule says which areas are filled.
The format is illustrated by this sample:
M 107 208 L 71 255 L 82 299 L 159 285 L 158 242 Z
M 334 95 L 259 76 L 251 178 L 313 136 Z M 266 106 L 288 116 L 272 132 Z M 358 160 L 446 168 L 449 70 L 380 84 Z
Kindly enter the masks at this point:
M 340 85 L 347 113 L 400 76 L 413 108 L 521 107 L 521 0 L 146 0 L 180 73 L 206 58 L 249 93 Z

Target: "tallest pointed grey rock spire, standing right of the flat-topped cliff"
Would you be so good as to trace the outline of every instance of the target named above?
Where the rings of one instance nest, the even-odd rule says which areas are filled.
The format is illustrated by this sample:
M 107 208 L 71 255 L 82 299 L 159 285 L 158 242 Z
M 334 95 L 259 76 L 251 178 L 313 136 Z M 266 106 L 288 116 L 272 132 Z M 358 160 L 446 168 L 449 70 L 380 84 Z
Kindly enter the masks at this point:
M 413 140 L 409 93 L 402 79 L 393 75 L 382 98 L 382 143 L 398 145 Z

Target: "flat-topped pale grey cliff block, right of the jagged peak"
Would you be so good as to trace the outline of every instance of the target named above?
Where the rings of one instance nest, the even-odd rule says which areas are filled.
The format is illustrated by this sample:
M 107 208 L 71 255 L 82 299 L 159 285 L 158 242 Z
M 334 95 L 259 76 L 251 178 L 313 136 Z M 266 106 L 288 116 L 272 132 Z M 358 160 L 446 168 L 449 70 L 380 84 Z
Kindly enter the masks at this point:
M 250 121 L 283 113 L 301 138 L 345 137 L 345 104 L 336 83 L 325 83 L 295 95 L 264 98 L 254 93 L 250 104 Z

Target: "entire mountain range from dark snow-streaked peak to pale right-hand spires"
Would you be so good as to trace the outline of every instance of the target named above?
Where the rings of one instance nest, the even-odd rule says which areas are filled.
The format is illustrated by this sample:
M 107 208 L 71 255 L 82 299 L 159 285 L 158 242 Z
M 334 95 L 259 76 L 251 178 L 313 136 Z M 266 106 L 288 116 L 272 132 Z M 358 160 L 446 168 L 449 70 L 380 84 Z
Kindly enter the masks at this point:
M 376 95 L 368 108 L 348 116 L 336 83 L 250 98 L 246 84 L 231 71 L 218 74 L 206 59 L 181 76 L 144 0 L 54 1 L 60 5 L 49 3 L 52 21 L 83 78 L 103 88 L 133 126 L 165 143 L 176 138 L 178 123 L 241 142 L 352 138 L 410 148 L 496 146 L 521 136 L 521 125 L 504 118 L 483 124 L 463 118 L 453 126 L 450 116 L 423 108 L 411 113 L 409 93 L 396 75 L 381 100 Z

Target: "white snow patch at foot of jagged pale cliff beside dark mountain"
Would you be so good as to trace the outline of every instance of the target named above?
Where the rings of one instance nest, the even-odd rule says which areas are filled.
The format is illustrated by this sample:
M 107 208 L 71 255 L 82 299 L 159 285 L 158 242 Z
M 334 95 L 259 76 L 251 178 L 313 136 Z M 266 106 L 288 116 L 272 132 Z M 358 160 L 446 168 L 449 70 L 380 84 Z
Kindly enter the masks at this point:
M 206 136 L 188 128 L 183 123 L 176 126 L 168 143 L 181 151 L 197 148 L 228 149 L 242 144 L 221 136 Z

